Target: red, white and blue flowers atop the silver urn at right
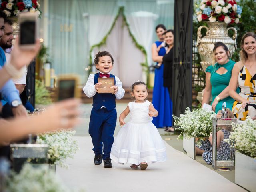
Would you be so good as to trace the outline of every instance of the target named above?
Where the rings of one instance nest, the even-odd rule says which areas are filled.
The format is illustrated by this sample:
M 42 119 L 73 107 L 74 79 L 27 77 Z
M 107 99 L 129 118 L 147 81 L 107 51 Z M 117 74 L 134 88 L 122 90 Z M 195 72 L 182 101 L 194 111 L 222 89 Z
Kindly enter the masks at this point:
M 239 23 L 242 7 L 235 0 L 202 0 L 196 10 L 197 20 L 210 22 Z

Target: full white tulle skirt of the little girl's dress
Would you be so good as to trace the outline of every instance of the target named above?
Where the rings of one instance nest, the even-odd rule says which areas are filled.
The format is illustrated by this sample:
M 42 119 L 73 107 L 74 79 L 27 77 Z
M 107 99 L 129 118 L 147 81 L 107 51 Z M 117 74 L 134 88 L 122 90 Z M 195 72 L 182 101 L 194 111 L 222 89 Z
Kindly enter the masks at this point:
M 110 158 L 119 164 L 166 161 L 164 142 L 152 122 L 126 123 L 114 139 Z

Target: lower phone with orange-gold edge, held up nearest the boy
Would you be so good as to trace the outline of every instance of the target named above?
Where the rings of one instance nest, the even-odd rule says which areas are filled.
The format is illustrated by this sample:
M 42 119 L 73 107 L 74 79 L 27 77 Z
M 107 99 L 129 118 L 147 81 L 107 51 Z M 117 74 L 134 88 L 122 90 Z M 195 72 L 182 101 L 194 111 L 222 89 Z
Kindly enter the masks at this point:
M 74 75 L 62 75 L 57 78 L 57 100 L 80 98 L 79 78 Z

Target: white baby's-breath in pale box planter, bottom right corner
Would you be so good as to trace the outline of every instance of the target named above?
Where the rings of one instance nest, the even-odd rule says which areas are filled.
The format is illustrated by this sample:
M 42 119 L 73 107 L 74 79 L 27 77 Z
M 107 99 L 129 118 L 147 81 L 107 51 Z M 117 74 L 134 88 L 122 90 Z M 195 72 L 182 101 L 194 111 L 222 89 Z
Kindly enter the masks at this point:
M 256 192 L 256 121 L 247 118 L 232 130 L 226 142 L 236 148 L 235 183 Z

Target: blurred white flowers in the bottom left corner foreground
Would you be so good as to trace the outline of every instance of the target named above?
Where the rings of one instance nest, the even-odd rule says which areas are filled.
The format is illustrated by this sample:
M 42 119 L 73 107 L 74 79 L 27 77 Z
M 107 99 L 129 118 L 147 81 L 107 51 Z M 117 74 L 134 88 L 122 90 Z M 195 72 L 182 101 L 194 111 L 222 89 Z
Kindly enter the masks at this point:
M 6 179 L 8 192 L 68 192 L 56 174 L 48 166 L 32 168 L 25 164 L 19 174 L 12 172 Z

